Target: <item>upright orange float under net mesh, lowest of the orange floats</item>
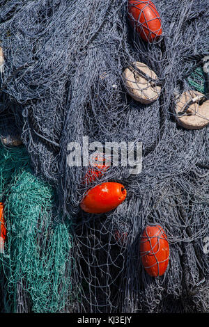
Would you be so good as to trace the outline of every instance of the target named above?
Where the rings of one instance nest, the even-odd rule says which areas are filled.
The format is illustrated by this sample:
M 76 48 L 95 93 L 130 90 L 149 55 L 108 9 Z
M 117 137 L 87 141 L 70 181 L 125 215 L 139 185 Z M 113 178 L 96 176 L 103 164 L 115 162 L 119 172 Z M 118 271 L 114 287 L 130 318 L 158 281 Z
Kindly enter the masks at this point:
M 169 264 L 169 242 L 160 225 L 146 226 L 141 236 L 140 255 L 150 276 L 162 276 Z

